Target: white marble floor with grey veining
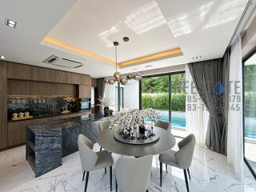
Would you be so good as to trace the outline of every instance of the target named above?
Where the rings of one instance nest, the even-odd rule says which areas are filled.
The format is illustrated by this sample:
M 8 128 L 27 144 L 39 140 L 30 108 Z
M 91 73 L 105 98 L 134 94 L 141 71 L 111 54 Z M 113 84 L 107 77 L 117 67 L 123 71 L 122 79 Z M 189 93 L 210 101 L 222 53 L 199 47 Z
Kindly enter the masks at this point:
M 95 145 L 94 150 L 98 150 Z M 119 155 L 114 154 L 114 162 Z M 165 166 L 164 166 L 165 167 Z M 113 171 L 114 173 L 114 171 Z M 156 157 L 153 161 L 150 191 L 186 191 L 183 171 L 169 167 L 163 174 L 163 186 L 159 186 L 159 165 Z M 196 146 L 190 168 L 190 191 L 256 191 L 256 181 L 245 166 L 245 178 L 238 181 L 226 164 L 226 157 L 216 154 L 205 147 Z M 90 173 L 88 190 L 110 191 L 109 173 L 104 170 Z M 39 178 L 34 178 L 30 166 L 25 161 L 25 146 L 0 152 L 0 191 L 44 192 L 44 191 L 83 191 L 82 170 L 79 154 L 74 153 L 63 158 L 63 165 Z M 113 175 L 114 191 L 114 175 Z

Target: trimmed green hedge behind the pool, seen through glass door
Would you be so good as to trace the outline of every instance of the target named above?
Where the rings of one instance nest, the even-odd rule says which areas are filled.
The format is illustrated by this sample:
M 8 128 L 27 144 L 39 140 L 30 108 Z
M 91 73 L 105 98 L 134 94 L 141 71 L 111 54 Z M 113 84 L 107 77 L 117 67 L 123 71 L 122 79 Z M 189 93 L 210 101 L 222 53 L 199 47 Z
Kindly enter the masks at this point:
M 169 110 L 169 94 L 142 94 L 142 109 Z M 186 94 L 171 94 L 171 108 L 176 111 L 185 111 Z

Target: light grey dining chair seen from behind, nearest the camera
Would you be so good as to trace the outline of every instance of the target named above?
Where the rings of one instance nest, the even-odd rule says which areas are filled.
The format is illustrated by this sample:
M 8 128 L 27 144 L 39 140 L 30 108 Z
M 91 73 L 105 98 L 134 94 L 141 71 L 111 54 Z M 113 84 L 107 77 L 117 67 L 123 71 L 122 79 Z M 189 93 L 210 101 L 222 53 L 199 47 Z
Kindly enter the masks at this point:
M 148 191 L 153 155 L 142 158 L 119 158 L 115 167 L 115 191 Z

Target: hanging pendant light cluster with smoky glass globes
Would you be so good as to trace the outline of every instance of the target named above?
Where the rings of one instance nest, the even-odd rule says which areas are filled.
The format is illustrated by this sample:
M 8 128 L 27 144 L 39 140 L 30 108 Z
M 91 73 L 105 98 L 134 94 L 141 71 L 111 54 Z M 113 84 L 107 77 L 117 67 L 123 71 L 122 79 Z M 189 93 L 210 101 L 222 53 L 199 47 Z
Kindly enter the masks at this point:
M 129 42 L 129 38 L 123 38 L 124 42 Z M 139 81 L 142 79 L 142 75 L 139 73 L 130 73 L 127 75 L 122 75 L 118 72 L 118 56 L 117 56 L 117 46 L 119 42 L 114 42 L 114 53 L 115 53 L 115 72 L 113 77 L 105 78 L 104 82 L 113 85 L 115 82 L 120 82 L 123 86 L 127 84 L 128 80 Z

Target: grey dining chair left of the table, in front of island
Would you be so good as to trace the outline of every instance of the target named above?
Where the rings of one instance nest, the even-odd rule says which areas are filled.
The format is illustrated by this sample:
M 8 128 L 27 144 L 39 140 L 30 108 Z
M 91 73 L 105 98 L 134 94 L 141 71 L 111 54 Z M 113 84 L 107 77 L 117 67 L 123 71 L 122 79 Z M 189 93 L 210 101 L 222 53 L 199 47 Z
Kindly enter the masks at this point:
M 89 138 L 86 138 L 83 134 L 79 134 L 78 136 L 78 150 L 81 159 L 81 165 L 83 170 L 82 181 L 84 181 L 84 177 L 86 174 L 86 186 L 85 192 L 87 190 L 88 179 L 90 171 L 100 170 L 106 167 L 110 167 L 110 191 L 112 190 L 112 165 L 113 158 L 110 152 L 106 150 L 94 152 L 94 143 L 90 141 Z

